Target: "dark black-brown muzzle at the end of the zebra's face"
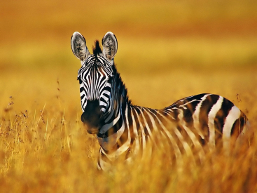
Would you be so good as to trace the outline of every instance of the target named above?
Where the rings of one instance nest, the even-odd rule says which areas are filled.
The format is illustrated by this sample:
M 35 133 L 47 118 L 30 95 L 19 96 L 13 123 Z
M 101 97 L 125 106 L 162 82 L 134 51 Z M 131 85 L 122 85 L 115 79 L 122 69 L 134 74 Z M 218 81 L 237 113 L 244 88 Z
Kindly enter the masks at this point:
M 87 126 L 88 133 L 98 133 L 103 123 L 99 100 L 88 100 L 81 115 L 81 121 Z

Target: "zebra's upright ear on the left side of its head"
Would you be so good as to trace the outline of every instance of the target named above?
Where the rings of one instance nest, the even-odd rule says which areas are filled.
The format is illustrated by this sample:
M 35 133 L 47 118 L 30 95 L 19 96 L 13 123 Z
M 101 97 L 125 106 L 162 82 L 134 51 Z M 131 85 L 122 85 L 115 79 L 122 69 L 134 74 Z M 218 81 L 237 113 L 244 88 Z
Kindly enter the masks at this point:
M 71 36 L 71 50 L 81 61 L 85 60 L 85 58 L 88 58 L 90 55 L 90 52 L 85 45 L 85 38 L 78 32 L 74 32 L 74 34 Z

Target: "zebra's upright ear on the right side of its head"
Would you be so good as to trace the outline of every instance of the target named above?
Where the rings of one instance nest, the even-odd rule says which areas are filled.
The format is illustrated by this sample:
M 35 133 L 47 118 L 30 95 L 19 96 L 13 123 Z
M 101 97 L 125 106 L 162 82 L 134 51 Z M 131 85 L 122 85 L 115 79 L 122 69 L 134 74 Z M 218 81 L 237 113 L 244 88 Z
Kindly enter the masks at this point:
M 102 45 L 104 48 L 103 54 L 106 58 L 112 60 L 118 50 L 118 41 L 116 36 L 112 32 L 107 32 L 102 39 Z

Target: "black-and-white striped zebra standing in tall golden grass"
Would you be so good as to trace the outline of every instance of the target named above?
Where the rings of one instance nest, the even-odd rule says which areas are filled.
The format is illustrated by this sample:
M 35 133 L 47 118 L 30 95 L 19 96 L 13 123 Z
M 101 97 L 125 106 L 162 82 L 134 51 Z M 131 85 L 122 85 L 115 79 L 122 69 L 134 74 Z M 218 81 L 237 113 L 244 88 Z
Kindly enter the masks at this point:
M 104 35 L 102 48 L 95 41 L 92 54 L 85 38 L 74 32 L 71 50 L 81 60 L 81 121 L 88 133 L 97 135 L 99 170 L 108 171 L 119 157 L 130 161 L 164 142 L 175 159 L 192 155 L 194 147 L 202 161 L 203 147 L 213 149 L 221 144 L 229 149 L 249 126 L 246 115 L 220 95 L 193 95 L 163 109 L 132 105 L 114 64 L 118 41 L 112 32 Z

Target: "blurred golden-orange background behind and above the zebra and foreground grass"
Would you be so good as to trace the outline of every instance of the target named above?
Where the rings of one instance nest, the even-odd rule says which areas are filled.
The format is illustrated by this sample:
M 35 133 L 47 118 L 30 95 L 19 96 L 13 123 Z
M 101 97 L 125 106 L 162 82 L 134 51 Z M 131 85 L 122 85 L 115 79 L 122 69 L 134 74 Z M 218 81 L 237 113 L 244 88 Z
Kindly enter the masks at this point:
M 136 105 L 216 93 L 248 112 L 257 88 L 256 10 L 254 0 L 1 1 L 0 112 L 12 97 L 17 111 L 56 105 L 80 113 L 75 31 L 91 52 L 95 39 L 116 34 L 115 62 Z

